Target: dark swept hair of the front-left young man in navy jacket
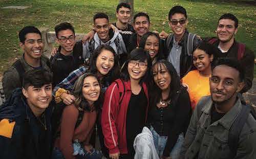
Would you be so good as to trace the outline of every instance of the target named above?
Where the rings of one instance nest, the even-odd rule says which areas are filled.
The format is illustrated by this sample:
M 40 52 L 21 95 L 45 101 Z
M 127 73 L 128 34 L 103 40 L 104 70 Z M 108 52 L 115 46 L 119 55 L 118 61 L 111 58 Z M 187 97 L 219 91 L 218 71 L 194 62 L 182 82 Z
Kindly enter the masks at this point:
M 45 69 L 29 70 L 24 74 L 22 86 L 25 89 L 29 86 L 41 87 L 45 84 L 51 84 L 52 77 L 52 74 Z

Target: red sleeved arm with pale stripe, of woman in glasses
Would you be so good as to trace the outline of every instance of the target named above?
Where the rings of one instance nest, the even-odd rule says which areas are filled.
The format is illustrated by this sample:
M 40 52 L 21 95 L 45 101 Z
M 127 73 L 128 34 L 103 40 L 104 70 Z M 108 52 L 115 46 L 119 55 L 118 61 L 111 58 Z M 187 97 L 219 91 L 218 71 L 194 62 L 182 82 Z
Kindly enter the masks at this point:
M 112 83 L 106 89 L 101 114 L 101 126 L 104 135 L 105 146 L 110 154 L 119 153 L 118 136 L 116 130 L 116 117 L 119 106 L 119 91 L 116 83 Z

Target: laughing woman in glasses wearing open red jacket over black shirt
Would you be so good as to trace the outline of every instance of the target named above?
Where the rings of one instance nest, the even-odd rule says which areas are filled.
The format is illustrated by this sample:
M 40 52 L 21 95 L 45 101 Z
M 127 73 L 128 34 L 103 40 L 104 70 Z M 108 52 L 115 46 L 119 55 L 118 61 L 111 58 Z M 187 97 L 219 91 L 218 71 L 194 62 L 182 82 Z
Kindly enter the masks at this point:
M 133 158 L 133 142 L 147 117 L 151 60 L 144 49 L 135 49 L 121 70 L 120 79 L 106 90 L 102 131 L 110 158 Z

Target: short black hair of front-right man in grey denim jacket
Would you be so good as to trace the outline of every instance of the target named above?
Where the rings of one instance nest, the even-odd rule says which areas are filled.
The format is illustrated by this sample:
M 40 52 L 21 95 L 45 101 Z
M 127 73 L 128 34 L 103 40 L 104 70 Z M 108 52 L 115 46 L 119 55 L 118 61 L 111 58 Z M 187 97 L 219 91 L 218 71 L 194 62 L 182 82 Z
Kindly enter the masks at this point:
M 212 64 L 211 72 L 213 72 L 215 67 L 217 67 L 218 65 L 227 65 L 229 67 L 232 67 L 233 69 L 236 69 L 239 72 L 240 82 L 244 81 L 244 78 L 245 78 L 244 67 L 241 65 L 241 63 L 237 59 L 230 58 L 230 57 L 219 58 Z

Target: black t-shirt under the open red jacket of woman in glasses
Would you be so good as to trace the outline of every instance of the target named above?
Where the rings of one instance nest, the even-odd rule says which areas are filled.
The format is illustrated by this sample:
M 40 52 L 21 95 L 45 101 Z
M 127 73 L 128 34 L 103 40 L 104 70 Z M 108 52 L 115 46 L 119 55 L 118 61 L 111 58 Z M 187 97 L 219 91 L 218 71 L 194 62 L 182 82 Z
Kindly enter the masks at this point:
M 138 95 L 132 93 L 126 113 L 126 143 L 128 153 L 134 155 L 133 142 L 145 125 L 147 98 L 141 88 Z

